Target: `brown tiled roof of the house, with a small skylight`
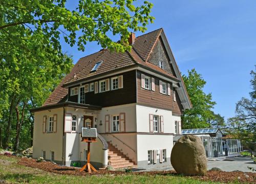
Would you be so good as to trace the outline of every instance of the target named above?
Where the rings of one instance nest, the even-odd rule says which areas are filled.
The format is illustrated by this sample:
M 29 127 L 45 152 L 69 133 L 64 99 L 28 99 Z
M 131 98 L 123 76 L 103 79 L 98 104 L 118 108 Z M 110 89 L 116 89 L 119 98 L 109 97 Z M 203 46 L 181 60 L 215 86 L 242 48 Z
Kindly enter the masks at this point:
M 72 68 L 70 74 L 68 74 L 55 88 L 43 106 L 66 101 L 68 89 L 63 86 L 128 66 L 141 65 L 168 77 L 172 77 L 173 79 L 177 79 L 175 76 L 167 73 L 160 67 L 145 62 L 150 55 L 161 31 L 162 29 L 158 29 L 142 36 L 138 36 L 132 44 L 131 52 L 117 53 L 111 52 L 108 49 L 103 49 L 97 53 L 80 58 Z M 97 71 L 91 72 L 94 65 L 99 61 L 102 61 L 102 63 L 98 67 Z

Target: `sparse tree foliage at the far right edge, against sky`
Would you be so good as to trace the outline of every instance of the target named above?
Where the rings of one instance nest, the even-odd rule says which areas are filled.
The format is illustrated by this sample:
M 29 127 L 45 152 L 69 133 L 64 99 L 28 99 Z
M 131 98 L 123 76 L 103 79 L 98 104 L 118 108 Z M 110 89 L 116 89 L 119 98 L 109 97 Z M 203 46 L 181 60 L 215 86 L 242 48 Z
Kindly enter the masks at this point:
M 256 65 L 255 65 L 256 69 Z M 251 71 L 250 99 L 242 98 L 236 106 L 236 116 L 229 118 L 227 132 L 244 144 L 256 142 L 256 70 Z

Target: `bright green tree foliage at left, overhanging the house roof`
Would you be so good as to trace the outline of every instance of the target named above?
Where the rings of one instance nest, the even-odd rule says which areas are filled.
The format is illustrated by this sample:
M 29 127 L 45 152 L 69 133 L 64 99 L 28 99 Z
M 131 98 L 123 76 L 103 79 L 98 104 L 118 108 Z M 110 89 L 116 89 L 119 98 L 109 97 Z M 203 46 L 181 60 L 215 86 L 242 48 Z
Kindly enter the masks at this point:
M 76 10 L 65 0 L 0 0 L 0 147 L 31 146 L 33 114 L 70 72 L 71 56 L 60 39 L 84 51 L 88 42 L 124 52 L 130 31 L 153 22 L 152 4 L 133 0 L 80 0 Z M 120 35 L 115 42 L 111 35 Z M 29 138 L 28 138 L 29 137 Z

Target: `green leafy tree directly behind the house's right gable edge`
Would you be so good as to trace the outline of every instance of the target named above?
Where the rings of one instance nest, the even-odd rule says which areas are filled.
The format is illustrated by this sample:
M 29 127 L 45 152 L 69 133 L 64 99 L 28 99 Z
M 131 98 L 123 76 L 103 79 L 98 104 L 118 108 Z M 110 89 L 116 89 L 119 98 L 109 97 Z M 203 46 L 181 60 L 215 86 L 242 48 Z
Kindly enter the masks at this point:
M 195 69 L 188 71 L 188 76 L 183 75 L 182 78 L 193 105 L 193 108 L 184 110 L 182 114 L 182 128 L 210 127 L 210 122 L 215 120 L 215 114 L 211 108 L 216 102 L 212 101 L 211 94 L 204 93 L 203 88 L 206 82 Z

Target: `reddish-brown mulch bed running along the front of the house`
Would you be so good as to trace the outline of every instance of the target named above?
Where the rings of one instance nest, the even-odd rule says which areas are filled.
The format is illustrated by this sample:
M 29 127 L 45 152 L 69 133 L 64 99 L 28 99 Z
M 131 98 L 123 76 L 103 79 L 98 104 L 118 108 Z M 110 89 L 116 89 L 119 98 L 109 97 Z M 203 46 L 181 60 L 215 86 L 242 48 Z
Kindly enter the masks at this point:
M 131 172 L 126 173 L 124 171 L 106 171 L 99 170 L 98 172 L 93 172 L 89 174 L 85 171 L 79 172 L 79 168 L 59 166 L 51 162 L 41 162 L 37 163 L 33 158 L 23 157 L 19 159 L 18 164 L 23 166 L 28 166 L 32 168 L 37 168 L 40 170 L 48 171 L 56 174 L 67 174 L 75 176 L 89 176 L 89 175 L 124 175 L 124 174 L 133 174 L 133 175 L 178 175 L 174 170 L 173 171 L 153 171 L 153 172 Z M 208 171 L 207 176 L 184 176 L 193 179 L 199 179 L 204 181 L 217 181 L 217 182 L 231 182 L 239 181 L 246 183 L 256 183 L 256 173 L 251 172 L 224 172 L 224 171 Z

